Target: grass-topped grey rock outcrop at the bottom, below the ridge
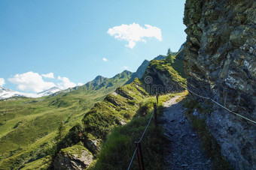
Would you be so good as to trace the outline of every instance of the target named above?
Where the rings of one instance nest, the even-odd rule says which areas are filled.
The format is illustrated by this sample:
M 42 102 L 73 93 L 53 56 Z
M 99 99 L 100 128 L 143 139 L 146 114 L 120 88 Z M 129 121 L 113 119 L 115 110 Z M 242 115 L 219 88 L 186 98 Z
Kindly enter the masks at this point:
M 54 160 L 54 169 L 86 169 L 93 163 L 90 154 L 82 144 L 62 149 Z

